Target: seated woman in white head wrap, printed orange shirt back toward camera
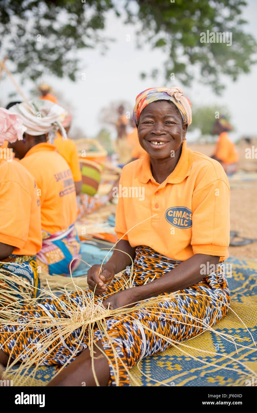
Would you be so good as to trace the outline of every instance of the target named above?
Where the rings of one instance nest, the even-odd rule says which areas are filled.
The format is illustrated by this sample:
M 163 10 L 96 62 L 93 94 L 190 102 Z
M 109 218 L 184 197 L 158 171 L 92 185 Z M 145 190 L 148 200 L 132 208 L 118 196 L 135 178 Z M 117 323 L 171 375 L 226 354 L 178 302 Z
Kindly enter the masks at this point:
M 73 258 L 80 257 L 80 242 L 75 230 L 76 193 L 71 169 L 52 142 L 59 116 L 64 109 L 48 100 L 16 104 L 10 113 L 21 116 L 26 127 L 23 140 L 9 143 L 20 163 L 34 177 L 41 204 L 42 249 L 37 254 L 38 266 L 52 274 L 69 275 Z M 79 261 L 72 262 L 71 270 Z

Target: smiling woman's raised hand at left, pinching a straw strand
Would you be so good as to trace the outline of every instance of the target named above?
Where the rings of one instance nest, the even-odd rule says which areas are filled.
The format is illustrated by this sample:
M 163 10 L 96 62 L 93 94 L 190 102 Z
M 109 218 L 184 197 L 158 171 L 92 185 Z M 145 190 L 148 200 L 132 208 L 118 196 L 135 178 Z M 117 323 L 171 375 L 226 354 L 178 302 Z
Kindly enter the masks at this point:
M 100 272 L 101 268 L 101 272 Z M 87 271 L 87 284 L 91 291 L 100 295 L 107 291 L 105 283 L 113 279 L 115 275 L 114 267 L 111 264 L 94 264 Z

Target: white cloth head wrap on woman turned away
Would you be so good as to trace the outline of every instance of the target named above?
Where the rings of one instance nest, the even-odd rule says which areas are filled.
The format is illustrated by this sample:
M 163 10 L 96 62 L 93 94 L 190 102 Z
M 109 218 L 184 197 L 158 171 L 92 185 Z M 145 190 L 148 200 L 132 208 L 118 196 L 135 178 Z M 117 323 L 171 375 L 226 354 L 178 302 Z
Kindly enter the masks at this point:
M 29 135 L 48 134 L 50 143 L 53 142 L 58 129 L 64 139 L 66 131 L 60 122 L 61 115 L 66 112 L 61 106 L 45 99 L 35 99 L 12 106 L 8 112 L 18 114 Z

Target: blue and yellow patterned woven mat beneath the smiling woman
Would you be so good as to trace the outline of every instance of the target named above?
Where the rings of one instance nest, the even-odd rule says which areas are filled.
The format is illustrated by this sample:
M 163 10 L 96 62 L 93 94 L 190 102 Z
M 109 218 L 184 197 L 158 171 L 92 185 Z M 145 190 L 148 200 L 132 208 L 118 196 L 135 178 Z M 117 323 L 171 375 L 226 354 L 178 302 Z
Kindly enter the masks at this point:
M 257 342 L 257 261 L 230 257 L 226 263 L 232 264 L 232 277 L 229 278 L 231 291 L 231 308 L 244 321 L 255 341 Z M 163 353 L 140 361 L 139 368 L 135 366 L 131 372 L 137 384 L 131 380 L 132 386 L 245 386 L 252 380 L 252 375 L 236 361 L 231 361 L 226 356 L 236 358 L 248 368 L 257 372 L 257 347 L 238 318 L 229 311 L 229 314 L 215 325 L 215 330 L 226 334 L 235 335 L 245 339 L 244 344 L 252 349 L 241 350 L 238 354 L 233 344 L 221 339 L 218 335 L 205 332 L 194 339 L 185 342 L 193 349 L 182 346 L 172 347 Z M 202 349 L 210 352 L 219 352 L 223 356 L 203 354 Z M 212 364 L 206 366 L 201 361 L 196 361 L 189 355 L 182 353 L 189 351 L 192 356 L 201 361 Z M 219 367 L 214 367 L 217 364 Z M 243 373 L 225 370 L 224 367 L 240 368 Z M 54 367 L 40 367 L 37 370 L 33 384 L 28 386 L 45 386 L 55 372 Z M 10 377 L 11 379 L 12 377 Z M 156 380 L 156 381 L 155 381 Z M 162 382 L 160 384 L 158 382 Z

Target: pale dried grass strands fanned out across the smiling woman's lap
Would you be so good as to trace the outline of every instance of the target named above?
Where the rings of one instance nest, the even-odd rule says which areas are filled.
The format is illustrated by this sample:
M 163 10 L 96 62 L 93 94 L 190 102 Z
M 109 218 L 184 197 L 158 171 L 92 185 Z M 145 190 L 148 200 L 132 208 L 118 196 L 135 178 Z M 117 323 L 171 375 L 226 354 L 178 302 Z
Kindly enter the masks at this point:
M 149 217 L 149 218 L 152 218 L 152 217 Z M 147 218 L 147 219 L 149 219 L 149 218 Z M 142 221 L 142 222 L 144 222 L 144 221 Z M 137 224 L 137 225 L 139 225 L 139 224 Z M 137 225 L 135 225 L 135 226 L 137 226 Z M 129 231 L 127 231 L 127 232 L 129 232 Z M 115 249 L 116 244 L 113 245 L 111 250 Z M 109 252 L 111 252 L 111 250 Z M 108 254 L 105 256 L 105 258 L 107 256 L 108 256 Z M 130 259 L 132 260 L 131 257 L 130 257 Z M 104 261 L 102 262 L 101 267 L 102 267 L 103 263 L 104 263 Z M 133 266 L 133 260 L 132 260 L 132 266 Z M 101 271 L 101 267 L 100 267 L 100 271 Z M 70 269 L 70 273 L 71 273 L 71 269 Z M 128 283 L 129 283 L 129 286 L 132 286 L 133 281 L 134 281 L 134 278 L 132 278 L 132 274 L 133 274 L 133 270 L 131 268 L 130 277 L 129 277 L 128 280 L 123 280 L 123 286 L 121 287 L 121 289 L 125 289 L 127 287 Z M 71 274 L 71 277 L 72 277 L 72 274 Z M 71 280 L 74 283 L 73 278 L 71 278 Z M 47 283 L 48 283 L 48 280 L 47 280 Z M 125 370 L 129 374 L 129 376 L 132 378 L 132 376 L 129 372 L 129 369 L 127 368 L 127 366 L 124 365 L 123 361 L 120 359 L 119 354 L 115 350 L 115 347 L 112 343 L 111 336 L 109 335 L 108 330 L 107 330 L 106 318 L 115 317 L 115 316 L 124 316 L 124 317 L 127 316 L 127 317 L 129 317 L 130 313 L 132 313 L 133 311 L 139 311 L 139 310 L 141 310 L 144 313 L 144 308 L 145 307 L 147 307 L 147 310 L 146 310 L 147 313 L 150 313 L 150 314 L 152 313 L 153 315 L 156 315 L 156 313 L 155 313 L 156 310 L 154 308 L 149 309 L 149 307 L 153 306 L 154 304 L 158 304 L 160 302 L 167 301 L 167 300 L 171 299 L 172 297 L 175 297 L 176 294 L 177 294 L 177 293 L 173 293 L 173 294 L 153 297 L 153 298 L 147 300 L 147 302 L 145 300 L 140 301 L 139 303 L 137 303 L 136 306 L 132 306 L 131 308 L 121 307 L 121 308 L 116 309 L 116 310 L 110 310 L 109 308 L 106 309 L 102 305 L 102 301 L 103 301 L 103 299 L 106 299 L 106 296 L 104 298 L 100 299 L 99 302 L 95 303 L 94 302 L 94 292 L 93 293 L 91 293 L 89 291 L 85 292 L 85 291 L 82 290 L 81 287 L 76 286 L 75 283 L 74 283 L 74 286 L 75 286 L 75 289 L 77 291 L 80 291 L 81 294 L 82 294 L 83 302 L 85 303 L 85 306 L 83 306 L 82 308 L 80 306 L 75 307 L 73 305 L 74 303 L 72 303 L 72 300 L 70 299 L 69 295 L 67 294 L 67 290 L 66 290 L 66 286 L 65 286 L 64 291 L 66 292 L 67 299 L 68 299 L 68 304 L 65 304 L 65 308 L 64 308 L 64 304 L 62 305 L 62 302 L 59 299 L 59 297 L 54 296 L 54 294 L 52 292 L 51 292 L 51 296 L 54 299 L 56 299 L 57 301 L 59 301 L 59 304 L 62 306 L 62 308 L 64 310 L 63 312 L 66 315 L 66 317 L 54 318 L 54 317 L 44 316 L 44 317 L 40 317 L 40 318 L 37 318 L 37 319 L 33 318 L 33 316 L 29 317 L 29 318 L 27 317 L 28 323 L 26 325 L 26 328 L 31 326 L 31 328 L 42 329 L 42 321 L 44 323 L 43 324 L 44 328 L 50 328 L 50 327 L 55 327 L 55 328 L 54 328 L 54 331 L 52 332 L 51 336 L 45 336 L 44 337 L 42 335 L 42 333 L 40 333 L 40 335 L 42 335 L 42 337 L 36 343 L 37 344 L 36 349 L 35 348 L 24 349 L 24 352 L 23 352 L 24 354 L 21 354 L 17 358 L 17 360 L 22 360 L 23 356 L 25 357 L 25 359 L 24 359 L 24 361 L 22 361 L 21 365 L 19 366 L 19 368 L 17 370 L 12 369 L 14 364 L 17 362 L 17 360 L 8 364 L 7 369 L 5 371 L 5 375 L 8 376 L 9 373 L 13 372 L 14 373 L 13 380 L 14 380 L 14 383 L 16 383 L 16 385 L 19 385 L 19 384 L 24 385 L 24 382 L 27 382 L 29 380 L 29 378 L 31 377 L 31 374 L 29 374 L 29 375 L 27 374 L 28 369 L 31 368 L 33 365 L 35 367 L 34 367 L 33 372 L 32 372 L 32 378 L 34 378 L 35 373 L 36 373 L 36 367 L 39 366 L 39 365 L 42 365 L 44 363 L 44 361 L 46 360 L 46 358 L 47 358 L 47 355 L 45 354 L 47 348 L 54 345 L 54 342 L 56 340 L 58 341 L 58 339 L 61 339 L 62 341 L 65 340 L 67 337 L 69 337 L 71 335 L 71 333 L 73 331 L 78 330 L 78 328 L 80 328 L 81 330 L 80 330 L 79 337 L 76 340 L 75 349 L 73 351 L 71 351 L 71 355 L 66 360 L 66 363 L 64 364 L 64 366 L 61 367 L 61 370 L 63 368 L 65 368 L 65 366 L 71 361 L 71 359 L 76 356 L 78 351 L 80 351 L 80 346 L 83 343 L 85 334 L 87 332 L 86 340 L 87 340 L 87 344 L 88 344 L 88 347 L 90 349 L 90 355 L 91 355 L 91 358 L 92 358 L 92 371 L 93 371 L 96 383 L 97 383 L 97 385 L 99 385 L 99 383 L 97 381 L 97 377 L 95 375 L 95 371 L 94 371 L 93 344 L 97 346 L 97 343 L 95 342 L 95 339 L 94 339 L 94 327 L 95 326 L 98 327 L 98 329 L 101 333 L 101 337 L 104 338 L 105 340 L 107 340 L 108 344 L 113 349 L 113 355 L 114 355 L 114 359 L 115 359 L 115 363 L 114 363 L 115 366 L 113 366 L 113 371 L 114 371 L 116 385 L 119 385 L 119 381 L 118 381 L 118 361 L 120 361 L 120 363 L 124 366 Z M 183 313 L 180 313 L 179 311 L 176 311 L 176 310 L 171 310 L 170 312 L 171 312 L 171 314 L 174 314 L 174 315 L 180 314 L 180 315 L 184 316 Z M 67 318 L 67 315 L 68 315 L 68 318 Z M 193 319 L 194 317 L 191 317 L 191 318 Z M 231 340 L 231 342 L 233 342 L 233 344 L 235 344 L 236 339 L 238 340 L 238 337 L 229 336 L 229 335 L 226 335 L 224 333 L 220 333 L 220 332 L 215 331 L 211 326 L 207 325 L 207 323 L 205 323 L 204 320 L 200 320 L 200 319 L 197 319 L 197 318 L 194 318 L 194 319 L 196 320 L 196 324 L 189 324 L 191 327 L 196 327 L 198 329 L 200 328 L 200 329 L 203 329 L 204 331 L 210 330 L 212 332 L 215 332 L 215 334 L 218 334 L 219 336 L 223 336 L 228 341 Z M 242 323 L 243 323 L 243 321 L 242 321 Z M 22 334 L 22 331 L 25 328 L 24 327 L 22 329 L 22 327 L 23 327 L 22 324 L 23 323 L 18 322 L 18 321 L 17 322 L 12 321 L 11 323 L 8 323 L 8 324 L 12 324 L 12 325 L 19 325 L 20 324 L 21 334 Z M 185 324 L 185 323 L 182 323 L 182 324 Z M 143 328 L 146 328 L 146 327 L 143 326 Z M 158 335 L 159 333 L 155 332 L 155 334 Z M 197 351 L 199 350 L 199 351 L 203 351 L 205 353 L 210 353 L 208 351 L 204 351 L 204 350 L 201 350 L 201 349 L 196 349 L 196 348 L 187 346 L 184 343 L 177 342 L 175 340 L 172 340 L 172 339 L 170 339 L 168 337 L 165 337 L 165 336 L 162 336 L 160 334 L 159 334 L 159 337 L 161 337 L 163 340 L 165 340 L 170 345 L 180 344 L 182 346 L 188 347 L 189 349 L 193 349 L 193 350 L 197 350 Z M 59 345 L 59 343 L 57 342 L 57 344 L 55 344 L 54 347 L 52 346 L 51 349 L 56 348 L 58 345 Z M 249 348 L 249 347 L 245 347 L 245 346 L 243 346 L 241 344 L 238 344 L 238 343 L 237 343 L 237 345 L 240 345 L 241 349 Z M 179 347 L 179 349 L 182 352 L 184 351 L 184 350 L 181 349 L 181 347 Z M 252 349 L 252 348 L 250 348 L 250 349 Z M 238 352 L 237 348 L 236 348 L 236 351 Z M 255 351 L 255 350 L 253 350 L 253 351 Z M 104 354 L 104 356 L 106 356 L 104 351 L 101 351 L 101 352 Z M 186 351 L 184 351 L 184 353 L 187 354 L 188 356 L 191 356 Z M 219 354 L 219 355 L 224 357 L 224 354 Z M 192 356 L 192 357 L 195 358 L 194 356 Z M 232 360 L 232 361 L 234 361 L 238 364 L 241 364 L 241 366 L 243 366 L 245 369 L 247 369 L 247 370 L 251 371 L 251 373 L 255 374 L 255 372 L 253 372 L 251 369 L 249 369 L 243 363 L 239 362 L 238 359 L 232 358 L 230 356 L 226 356 L 226 358 L 229 358 L 230 360 Z M 200 360 L 198 358 L 195 358 L 195 359 L 200 361 L 201 363 L 203 363 L 205 365 L 210 365 L 212 367 L 221 368 L 221 366 L 216 365 L 214 363 L 207 363 L 207 362 L 205 362 L 203 360 Z M 236 372 L 241 373 L 241 374 L 242 373 L 245 374 L 243 371 L 238 370 L 236 368 L 228 368 L 228 367 L 222 367 L 222 368 L 225 368 L 227 370 L 233 370 L 233 371 L 236 371 Z M 134 380 L 134 379 L 132 378 L 132 380 Z

